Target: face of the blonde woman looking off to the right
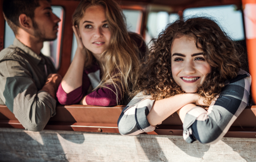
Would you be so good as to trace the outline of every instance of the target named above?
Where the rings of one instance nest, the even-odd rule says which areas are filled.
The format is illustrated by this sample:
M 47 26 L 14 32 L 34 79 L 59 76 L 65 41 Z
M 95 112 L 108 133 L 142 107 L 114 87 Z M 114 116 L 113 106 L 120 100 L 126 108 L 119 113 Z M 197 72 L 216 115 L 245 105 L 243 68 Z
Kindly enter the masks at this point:
M 79 36 L 82 42 L 97 60 L 108 48 L 111 32 L 108 28 L 105 9 L 102 6 L 91 6 L 84 12 L 79 23 Z

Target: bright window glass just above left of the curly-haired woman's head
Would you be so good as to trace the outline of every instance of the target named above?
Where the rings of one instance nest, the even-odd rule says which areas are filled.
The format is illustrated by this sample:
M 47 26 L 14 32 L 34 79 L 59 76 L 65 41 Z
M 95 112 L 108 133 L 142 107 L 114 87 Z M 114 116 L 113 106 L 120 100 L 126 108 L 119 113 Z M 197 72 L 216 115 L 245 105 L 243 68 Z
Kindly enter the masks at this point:
M 146 43 L 149 43 L 151 39 L 157 38 L 157 36 L 166 29 L 167 24 L 172 23 L 179 19 L 178 14 L 168 12 L 150 12 L 148 14 L 148 23 L 146 31 Z

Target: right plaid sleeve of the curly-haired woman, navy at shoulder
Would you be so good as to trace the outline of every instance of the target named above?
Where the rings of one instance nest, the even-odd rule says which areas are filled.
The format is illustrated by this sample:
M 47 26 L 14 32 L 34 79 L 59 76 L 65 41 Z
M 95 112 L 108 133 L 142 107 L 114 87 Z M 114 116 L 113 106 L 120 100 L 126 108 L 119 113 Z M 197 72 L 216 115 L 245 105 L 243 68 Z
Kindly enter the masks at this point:
M 183 138 L 186 142 L 198 140 L 204 144 L 213 144 L 227 133 L 249 102 L 251 77 L 249 74 L 243 75 L 244 78 L 233 80 L 224 87 L 208 111 L 194 107 L 186 114 L 183 123 Z

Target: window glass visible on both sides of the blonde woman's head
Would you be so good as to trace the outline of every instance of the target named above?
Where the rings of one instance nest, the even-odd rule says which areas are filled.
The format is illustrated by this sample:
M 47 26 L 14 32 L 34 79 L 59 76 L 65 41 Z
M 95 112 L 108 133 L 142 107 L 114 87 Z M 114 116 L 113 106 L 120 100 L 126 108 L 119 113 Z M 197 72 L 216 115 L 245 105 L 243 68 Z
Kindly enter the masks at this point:
M 142 21 L 142 12 L 139 10 L 128 10 L 124 9 L 122 10 L 127 23 L 128 31 L 130 32 L 136 32 L 140 34 L 140 28 L 141 28 L 141 21 Z M 73 34 L 73 43 L 72 43 L 72 53 L 71 53 L 71 62 L 75 56 L 77 48 L 77 42 L 76 37 Z

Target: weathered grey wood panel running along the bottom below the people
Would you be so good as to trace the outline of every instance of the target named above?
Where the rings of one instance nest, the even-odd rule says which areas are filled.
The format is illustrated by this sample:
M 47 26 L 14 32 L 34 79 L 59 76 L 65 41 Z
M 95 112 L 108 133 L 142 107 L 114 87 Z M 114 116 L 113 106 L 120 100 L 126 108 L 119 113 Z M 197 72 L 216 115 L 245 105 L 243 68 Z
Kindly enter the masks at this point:
M 1 162 L 256 162 L 256 139 L 187 144 L 182 136 L 0 128 Z

